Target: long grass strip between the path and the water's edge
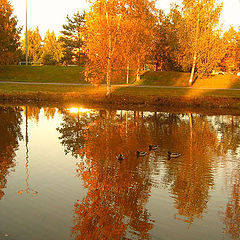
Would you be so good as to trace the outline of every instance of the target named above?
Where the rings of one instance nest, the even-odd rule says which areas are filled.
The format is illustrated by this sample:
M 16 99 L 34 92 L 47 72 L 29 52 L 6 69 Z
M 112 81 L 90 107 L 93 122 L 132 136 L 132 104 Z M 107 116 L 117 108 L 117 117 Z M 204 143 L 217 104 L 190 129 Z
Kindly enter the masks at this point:
M 106 105 L 172 106 L 240 109 L 240 91 L 172 89 L 114 86 L 110 97 L 106 87 L 1 84 L 0 99 L 17 102 L 71 102 Z

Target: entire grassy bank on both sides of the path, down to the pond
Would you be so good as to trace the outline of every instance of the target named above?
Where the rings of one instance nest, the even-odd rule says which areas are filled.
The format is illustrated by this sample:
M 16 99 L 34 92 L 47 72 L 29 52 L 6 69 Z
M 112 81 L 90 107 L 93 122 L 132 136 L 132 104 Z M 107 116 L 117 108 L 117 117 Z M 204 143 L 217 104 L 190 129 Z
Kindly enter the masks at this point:
M 52 83 L 85 83 L 83 68 L 53 66 L 1 66 L 0 82 L 28 81 Z M 188 86 L 188 73 L 146 72 L 133 85 L 113 86 L 112 94 L 106 97 L 106 87 L 90 85 L 21 85 L 0 84 L 0 99 L 10 101 L 66 102 L 129 104 L 175 107 L 239 108 L 240 78 L 233 75 L 218 75 L 208 79 L 197 79 L 193 88 Z M 160 88 L 159 86 L 169 86 Z M 224 89 L 214 89 L 224 88 Z M 208 89 L 201 89 L 208 88 Z

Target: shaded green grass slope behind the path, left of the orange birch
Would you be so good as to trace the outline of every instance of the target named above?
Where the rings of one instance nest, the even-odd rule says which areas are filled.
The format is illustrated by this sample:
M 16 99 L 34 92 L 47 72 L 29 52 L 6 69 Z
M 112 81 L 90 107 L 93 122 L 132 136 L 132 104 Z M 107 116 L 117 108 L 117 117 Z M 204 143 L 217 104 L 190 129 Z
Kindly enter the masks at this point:
M 78 66 L 0 66 L 0 81 L 86 83 Z

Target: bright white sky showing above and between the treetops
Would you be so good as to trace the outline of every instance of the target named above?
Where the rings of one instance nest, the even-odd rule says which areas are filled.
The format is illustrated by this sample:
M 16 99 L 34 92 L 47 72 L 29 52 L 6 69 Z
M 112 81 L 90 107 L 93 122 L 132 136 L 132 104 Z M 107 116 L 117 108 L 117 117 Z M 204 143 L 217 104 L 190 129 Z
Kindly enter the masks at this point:
M 24 26 L 26 21 L 26 0 L 9 0 L 14 8 L 20 26 Z M 66 23 L 66 16 L 73 13 L 80 13 L 87 8 L 86 0 L 27 0 L 28 1 L 28 27 L 39 27 L 42 37 L 49 29 L 58 36 L 62 30 L 62 25 Z M 169 11 L 170 4 L 181 2 L 180 0 L 157 0 L 157 8 Z M 240 0 L 222 0 L 223 11 L 220 23 L 224 29 L 230 25 L 237 28 L 240 25 Z M 24 31 L 22 31 L 24 32 Z

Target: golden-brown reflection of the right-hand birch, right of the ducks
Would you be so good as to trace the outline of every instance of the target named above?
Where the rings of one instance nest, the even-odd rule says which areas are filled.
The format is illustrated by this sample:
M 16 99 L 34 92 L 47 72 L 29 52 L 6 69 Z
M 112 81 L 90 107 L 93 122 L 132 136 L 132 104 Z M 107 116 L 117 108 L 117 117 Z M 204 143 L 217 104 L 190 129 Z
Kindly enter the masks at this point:
M 180 215 L 177 218 L 192 223 L 195 217 L 201 217 L 207 206 L 209 187 L 213 186 L 211 155 L 217 148 L 217 135 L 200 117 L 194 119 L 192 129 L 187 122 L 174 124 L 170 134 L 184 155 L 184 161 L 167 163 L 171 174 L 168 179 L 173 181 L 175 207 Z

